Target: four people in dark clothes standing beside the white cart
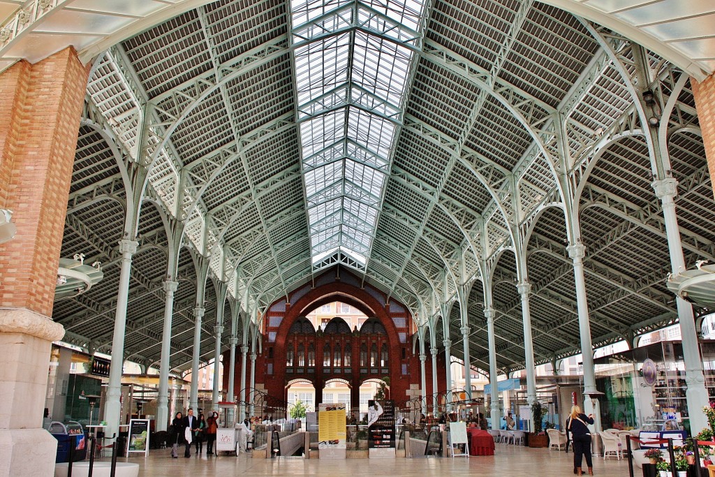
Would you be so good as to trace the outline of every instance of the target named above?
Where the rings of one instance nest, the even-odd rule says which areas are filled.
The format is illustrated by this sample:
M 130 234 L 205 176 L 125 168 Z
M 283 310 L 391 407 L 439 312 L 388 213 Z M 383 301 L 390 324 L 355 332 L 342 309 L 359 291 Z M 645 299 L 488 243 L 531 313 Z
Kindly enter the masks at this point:
M 189 409 L 187 415 L 178 412 L 172 421 L 172 431 L 170 439 L 172 443 L 172 457 L 179 457 L 179 445 L 184 444 L 184 457 L 191 457 L 191 444 L 196 446 L 197 456 L 202 453 L 204 441 L 206 442 L 206 453 L 214 453 L 214 443 L 216 441 L 216 430 L 218 428 L 219 413 L 213 411 L 209 418 L 205 418 L 203 413 L 199 417 L 194 415 L 194 410 Z

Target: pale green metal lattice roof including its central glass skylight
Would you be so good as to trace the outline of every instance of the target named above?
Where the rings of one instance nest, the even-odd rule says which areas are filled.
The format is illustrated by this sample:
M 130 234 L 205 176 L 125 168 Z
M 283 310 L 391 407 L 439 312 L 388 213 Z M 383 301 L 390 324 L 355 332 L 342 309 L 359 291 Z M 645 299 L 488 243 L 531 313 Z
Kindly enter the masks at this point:
M 126 355 L 145 365 L 159 357 L 172 246 L 164 223 L 184 228 L 172 338 L 179 369 L 190 361 L 199 257 L 250 316 L 337 265 L 408 305 L 420 323 L 454 300 L 457 283 L 477 280 L 470 353 L 483 368 L 480 262 L 489 262 L 498 366 L 518 368 L 523 328 L 510 227 L 531 231 L 537 362 L 577 353 L 566 223 L 561 209 L 546 207 L 559 200 L 557 172 L 578 193 L 593 344 L 677 319 L 636 111 L 636 62 L 616 33 L 623 29 L 553 1 L 197 3 L 94 60 L 61 253 L 101 261 L 104 280 L 57 303 L 54 318 L 70 342 L 111 347 L 116 244 L 129 203 L 121 169 L 142 167 L 148 202 Z M 605 10 L 601 3 L 581 6 Z M 624 16 L 616 14 L 621 23 Z M 674 104 L 661 122 L 680 183 L 686 262 L 715 260 L 712 186 L 681 70 L 689 65 L 646 46 L 659 104 Z M 702 68 L 711 62 L 690 58 Z M 202 360 L 212 357 L 216 316 L 216 292 L 207 290 Z M 445 328 L 458 340 L 458 305 L 450 310 Z

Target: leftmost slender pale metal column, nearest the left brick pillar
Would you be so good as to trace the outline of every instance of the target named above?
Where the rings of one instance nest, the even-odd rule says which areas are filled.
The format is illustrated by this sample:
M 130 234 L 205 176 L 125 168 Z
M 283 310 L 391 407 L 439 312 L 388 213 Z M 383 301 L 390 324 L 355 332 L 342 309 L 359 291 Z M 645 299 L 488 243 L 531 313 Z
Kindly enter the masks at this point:
M 104 421 L 107 421 L 107 436 L 119 435 L 119 419 L 122 413 L 122 370 L 124 370 L 124 332 L 127 329 L 127 301 L 129 300 L 129 272 L 132 271 L 132 255 L 137 253 L 139 242 L 119 240 L 122 265 L 119 270 L 117 290 L 117 310 L 114 313 L 114 337 L 112 338 L 112 366 L 109 368 L 107 404 Z

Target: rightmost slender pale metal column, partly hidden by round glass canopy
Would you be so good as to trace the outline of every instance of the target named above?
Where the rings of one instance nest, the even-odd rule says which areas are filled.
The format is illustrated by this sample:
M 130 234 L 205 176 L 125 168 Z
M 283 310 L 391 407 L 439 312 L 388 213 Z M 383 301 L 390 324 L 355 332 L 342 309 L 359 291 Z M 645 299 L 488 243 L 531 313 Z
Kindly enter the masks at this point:
M 686 270 L 686 266 L 674 202 L 678 182 L 673 177 L 668 177 L 664 180 L 654 181 L 652 186 L 663 207 L 671 268 L 673 273 L 680 273 Z M 686 403 L 688 403 L 691 433 L 696 434 L 709 426 L 705 414 L 701 412 L 702 408 L 709 405 L 708 390 L 705 388 L 705 376 L 700 358 L 700 346 L 695 329 L 693 307 L 681 297 L 676 298 L 676 305 L 678 307 L 680 334 L 683 343 L 683 360 L 686 370 L 685 382 L 688 385 L 685 397 Z

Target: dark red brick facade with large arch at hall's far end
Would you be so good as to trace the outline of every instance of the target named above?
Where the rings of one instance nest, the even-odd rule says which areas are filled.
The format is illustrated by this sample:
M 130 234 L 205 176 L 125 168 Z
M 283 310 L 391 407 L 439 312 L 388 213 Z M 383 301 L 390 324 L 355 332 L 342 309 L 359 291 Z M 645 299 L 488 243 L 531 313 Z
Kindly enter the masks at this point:
M 421 394 L 420 391 L 420 360 L 419 356 L 413 353 L 413 334 L 415 327 L 408 309 L 390 301 L 384 293 L 365 285 L 359 286 L 359 281 L 353 275 L 341 270 L 341 277 L 337 277 L 336 271 L 331 270 L 325 275 L 321 275 L 315 280 L 315 287 L 305 285 L 290 293 L 290 303 L 285 300 L 278 300 L 268 309 L 262 320 L 262 353 L 256 359 L 257 388 L 265 388 L 267 392 L 285 400 L 287 398 L 287 384 L 291 380 L 305 379 L 315 386 L 316 404 L 322 400 L 322 388 L 327 380 L 342 379 L 350 383 L 351 402 L 354 407 L 359 403 L 360 385 L 368 379 L 381 379 L 384 376 L 390 378 L 390 398 L 398 403 L 410 398 L 415 398 Z M 321 332 L 315 334 L 314 338 L 295 335 L 292 340 L 300 343 L 309 343 L 315 340 L 315 365 L 310 367 L 307 364 L 307 350 L 305 365 L 299 366 L 295 363 L 287 366 L 286 351 L 289 344 L 289 330 L 295 321 L 307 315 L 315 308 L 340 301 L 351 305 L 368 315 L 375 317 L 384 326 L 385 335 L 368 335 L 365 333 L 350 333 L 350 335 L 325 335 Z M 323 345 L 340 340 L 340 343 L 350 343 L 351 358 L 350 366 L 325 367 L 323 365 Z M 389 358 L 386 368 L 361 366 L 360 365 L 360 345 L 378 345 L 378 354 L 381 343 L 388 344 Z M 295 349 L 295 348 L 294 348 Z M 224 355 L 224 363 L 227 363 L 229 353 Z M 233 395 L 240 393 L 240 363 L 241 357 L 237 355 L 235 366 L 235 390 Z M 438 355 L 438 389 L 432 389 L 432 363 L 431 356 L 425 363 L 427 395 L 443 391 L 446 388 L 444 353 Z M 369 364 L 369 363 L 368 363 Z M 228 382 L 229 366 L 225 365 L 224 383 Z M 250 366 L 247 366 L 250 369 Z M 347 372 L 346 372 L 347 371 Z M 386 373 L 385 373 L 386 371 Z M 248 377 L 247 377 L 248 382 Z M 248 384 L 247 384 L 248 385 Z

